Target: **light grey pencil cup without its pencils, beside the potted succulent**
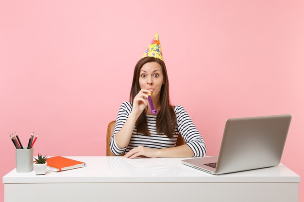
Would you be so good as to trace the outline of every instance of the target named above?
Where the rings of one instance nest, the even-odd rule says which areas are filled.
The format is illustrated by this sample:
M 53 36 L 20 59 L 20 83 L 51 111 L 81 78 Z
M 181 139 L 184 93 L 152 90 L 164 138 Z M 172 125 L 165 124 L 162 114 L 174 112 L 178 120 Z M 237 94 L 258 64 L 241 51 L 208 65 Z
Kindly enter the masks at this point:
M 33 151 L 31 149 L 16 149 L 16 171 L 30 172 L 33 170 Z

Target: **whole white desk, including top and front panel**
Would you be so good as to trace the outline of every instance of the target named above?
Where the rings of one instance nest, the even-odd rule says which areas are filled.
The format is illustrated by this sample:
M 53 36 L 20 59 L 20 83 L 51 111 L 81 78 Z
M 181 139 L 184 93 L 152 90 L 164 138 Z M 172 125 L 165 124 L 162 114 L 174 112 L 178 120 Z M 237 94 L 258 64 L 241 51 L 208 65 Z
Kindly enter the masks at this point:
M 276 167 L 211 175 L 183 158 L 72 156 L 86 167 L 3 177 L 4 202 L 298 202 L 300 176 Z M 40 196 L 40 197 L 39 197 Z

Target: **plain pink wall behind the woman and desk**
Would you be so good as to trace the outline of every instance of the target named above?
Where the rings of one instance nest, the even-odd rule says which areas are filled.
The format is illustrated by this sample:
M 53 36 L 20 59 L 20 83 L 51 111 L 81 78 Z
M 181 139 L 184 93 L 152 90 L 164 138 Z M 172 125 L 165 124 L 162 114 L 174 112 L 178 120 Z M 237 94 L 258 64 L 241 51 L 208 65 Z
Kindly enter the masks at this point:
M 171 101 L 208 155 L 227 118 L 292 113 L 282 163 L 304 174 L 304 1 L 0 0 L 0 176 L 15 168 L 14 132 L 24 145 L 39 134 L 35 155 L 105 155 L 156 31 Z

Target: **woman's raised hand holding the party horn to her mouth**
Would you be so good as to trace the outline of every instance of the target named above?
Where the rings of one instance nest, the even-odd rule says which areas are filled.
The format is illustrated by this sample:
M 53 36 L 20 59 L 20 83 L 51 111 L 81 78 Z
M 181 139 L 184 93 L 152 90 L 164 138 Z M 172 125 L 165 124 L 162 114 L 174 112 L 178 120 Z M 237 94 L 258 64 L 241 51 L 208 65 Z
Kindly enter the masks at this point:
M 148 93 L 152 93 L 147 89 L 141 89 L 135 96 L 132 105 L 132 111 L 138 117 L 148 105 Z

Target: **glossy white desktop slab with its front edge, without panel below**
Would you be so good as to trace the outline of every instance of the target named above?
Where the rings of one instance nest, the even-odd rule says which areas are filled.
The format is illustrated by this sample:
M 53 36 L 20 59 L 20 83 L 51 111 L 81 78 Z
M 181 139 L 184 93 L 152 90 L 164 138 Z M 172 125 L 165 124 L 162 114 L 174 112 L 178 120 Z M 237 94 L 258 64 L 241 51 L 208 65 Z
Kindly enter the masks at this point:
M 181 163 L 186 158 L 137 158 L 121 156 L 67 156 L 86 163 L 84 168 L 35 175 L 16 172 L 3 176 L 4 184 L 12 183 L 299 183 L 300 176 L 283 164 L 275 167 L 212 175 Z

